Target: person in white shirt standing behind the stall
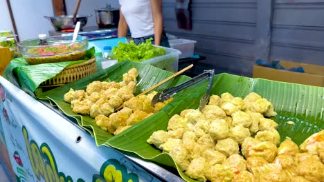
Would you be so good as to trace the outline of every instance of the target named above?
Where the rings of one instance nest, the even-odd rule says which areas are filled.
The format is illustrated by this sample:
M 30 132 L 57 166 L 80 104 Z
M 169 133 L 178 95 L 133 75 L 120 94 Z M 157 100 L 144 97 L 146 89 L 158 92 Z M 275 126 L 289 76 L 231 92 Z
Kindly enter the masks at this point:
M 152 43 L 170 48 L 163 31 L 162 0 L 119 0 L 118 37 L 126 37 L 128 28 L 138 45 L 152 38 Z

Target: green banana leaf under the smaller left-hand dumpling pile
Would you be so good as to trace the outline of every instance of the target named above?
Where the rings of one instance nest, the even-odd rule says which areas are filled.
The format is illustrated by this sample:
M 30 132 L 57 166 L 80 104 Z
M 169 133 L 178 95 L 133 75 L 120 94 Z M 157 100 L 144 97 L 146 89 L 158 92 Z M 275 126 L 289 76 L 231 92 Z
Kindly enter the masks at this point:
M 85 90 L 87 88 L 87 85 L 92 81 L 122 81 L 123 74 L 131 68 L 136 68 L 139 74 L 135 95 L 140 94 L 148 88 L 151 88 L 153 85 L 156 85 L 156 83 L 159 83 L 163 79 L 166 79 L 167 77 L 170 77 L 172 75 L 171 72 L 155 68 L 154 66 L 149 64 L 122 61 L 107 68 L 106 70 L 101 70 L 100 72 L 97 72 L 96 74 L 93 74 L 84 79 L 74 81 L 73 83 L 63 85 L 59 88 L 55 88 L 47 92 L 39 92 L 37 93 L 37 98 L 48 99 L 51 101 L 51 103 L 55 103 L 55 105 L 57 105 L 57 107 L 62 112 L 64 112 L 69 117 L 75 118 L 78 121 L 78 124 L 95 138 L 97 145 L 104 145 L 104 143 L 106 143 L 107 140 L 111 139 L 114 135 L 98 127 L 96 123 L 94 123 L 94 119 L 89 117 L 89 115 L 75 114 L 71 109 L 71 104 L 64 101 L 64 94 L 66 92 L 69 92 L 70 88 L 73 88 L 74 90 Z M 190 77 L 176 77 L 159 86 L 158 88 L 156 88 L 156 90 L 159 91 L 164 90 L 165 88 L 170 88 L 188 79 L 190 79 Z

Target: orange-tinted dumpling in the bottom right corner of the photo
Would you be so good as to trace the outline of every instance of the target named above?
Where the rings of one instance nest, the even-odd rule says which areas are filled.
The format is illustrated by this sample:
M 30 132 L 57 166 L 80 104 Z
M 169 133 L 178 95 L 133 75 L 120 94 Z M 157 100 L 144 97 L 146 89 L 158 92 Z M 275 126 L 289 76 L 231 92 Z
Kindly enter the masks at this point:
M 324 181 L 324 164 L 316 154 L 296 154 L 298 175 L 309 181 Z

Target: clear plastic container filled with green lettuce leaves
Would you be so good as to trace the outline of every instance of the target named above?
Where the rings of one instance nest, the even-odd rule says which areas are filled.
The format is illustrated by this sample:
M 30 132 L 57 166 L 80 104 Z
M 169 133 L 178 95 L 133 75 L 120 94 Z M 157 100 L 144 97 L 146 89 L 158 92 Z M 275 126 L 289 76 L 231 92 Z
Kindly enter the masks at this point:
M 154 45 L 154 46 L 161 47 L 158 45 Z M 156 68 L 161 68 L 162 70 L 167 70 L 169 72 L 177 72 L 179 55 L 181 55 L 181 51 L 172 48 L 165 48 L 165 49 L 166 49 L 166 53 L 164 55 L 159 57 L 154 57 L 152 59 L 147 59 L 139 63 L 143 63 L 143 64 L 148 63 L 150 65 L 154 65 Z

